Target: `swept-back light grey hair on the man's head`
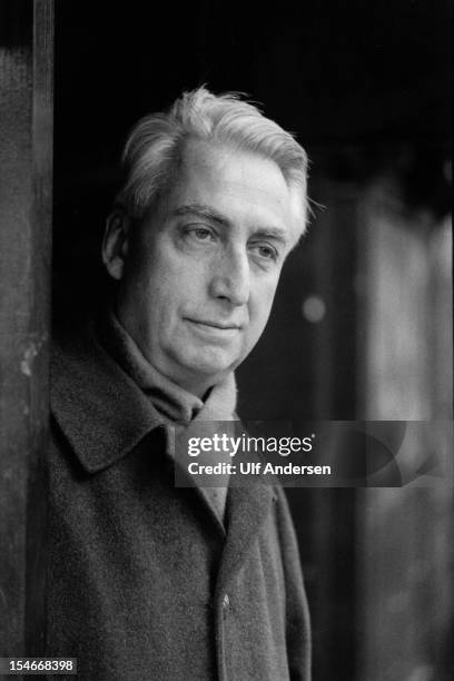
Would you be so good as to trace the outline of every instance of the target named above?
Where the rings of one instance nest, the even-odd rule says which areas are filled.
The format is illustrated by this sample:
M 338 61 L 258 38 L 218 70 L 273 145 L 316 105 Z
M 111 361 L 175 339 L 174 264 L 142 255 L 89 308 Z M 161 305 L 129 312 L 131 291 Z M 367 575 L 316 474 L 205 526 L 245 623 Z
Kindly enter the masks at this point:
M 205 87 L 184 92 L 168 111 L 146 116 L 132 128 L 122 154 L 125 181 L 117 205 L 141 219 L 166 190 L 189 138 L 223 142 L 275 161 L 294 193 L 298 236 L 305 231 L 309 210 L 303 147 L 239 93 L 216 96 Z

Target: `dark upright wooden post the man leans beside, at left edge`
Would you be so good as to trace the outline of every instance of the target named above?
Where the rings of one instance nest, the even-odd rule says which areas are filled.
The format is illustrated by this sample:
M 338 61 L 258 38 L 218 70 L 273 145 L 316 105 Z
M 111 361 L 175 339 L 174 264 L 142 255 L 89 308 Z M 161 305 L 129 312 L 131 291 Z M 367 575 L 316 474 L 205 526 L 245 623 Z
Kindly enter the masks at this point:
M 0 2 L 0 655 L 45 640 L 53 0 Z

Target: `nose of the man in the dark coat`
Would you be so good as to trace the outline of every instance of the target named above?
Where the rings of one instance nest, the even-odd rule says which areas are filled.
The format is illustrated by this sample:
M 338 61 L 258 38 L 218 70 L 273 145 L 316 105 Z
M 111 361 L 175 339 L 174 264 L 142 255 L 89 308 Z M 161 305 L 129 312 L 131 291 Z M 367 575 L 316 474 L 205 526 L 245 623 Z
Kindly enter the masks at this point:
M 245 305 L 249 299 L 249 277 L 247 253 L 239 248 L 229 253 L 224 251 L 214 263 L 210 294 L 234 306 Z

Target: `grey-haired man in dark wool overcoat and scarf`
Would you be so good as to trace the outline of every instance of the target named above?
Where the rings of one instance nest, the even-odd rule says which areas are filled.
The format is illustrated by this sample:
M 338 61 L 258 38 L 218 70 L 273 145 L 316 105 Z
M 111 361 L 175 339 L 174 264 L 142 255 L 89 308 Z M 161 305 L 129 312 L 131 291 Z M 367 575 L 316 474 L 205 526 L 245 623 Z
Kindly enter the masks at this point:
M 134 128 L 112 303 L 52 365 L 49 654 L 83 679 L 309 679 L 283 492 L 176 487 L 171 433 L 235 418 L 234 369 L 305 229 L 306 155 L 200 88 Z

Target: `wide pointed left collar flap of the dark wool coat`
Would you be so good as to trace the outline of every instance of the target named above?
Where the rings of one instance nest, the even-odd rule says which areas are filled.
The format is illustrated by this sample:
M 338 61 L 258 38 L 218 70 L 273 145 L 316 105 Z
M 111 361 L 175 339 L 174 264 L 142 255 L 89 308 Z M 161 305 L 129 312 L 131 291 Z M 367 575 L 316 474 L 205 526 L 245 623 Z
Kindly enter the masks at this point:
M 51 412 L 83 468 L 97 473 L 128 454 L 164 421 L 97 343 L 91 328 L 55 343 Z

